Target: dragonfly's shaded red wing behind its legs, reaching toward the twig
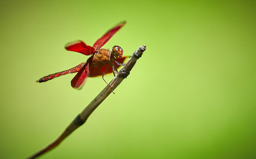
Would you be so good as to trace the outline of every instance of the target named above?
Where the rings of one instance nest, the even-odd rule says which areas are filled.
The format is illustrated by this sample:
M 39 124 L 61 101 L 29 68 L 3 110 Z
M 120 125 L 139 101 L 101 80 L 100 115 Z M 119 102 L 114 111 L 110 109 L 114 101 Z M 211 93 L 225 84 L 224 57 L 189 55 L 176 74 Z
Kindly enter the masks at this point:
M 124 62 L 124 60 L 127 58 L 127 56 L 125 57 L 122 57 L 122 58 L 119 58 L 119 59 L 116 59 L 116 61 L 120 64 L 122 64 Z M 119 68 L 120 65 L 117 65 L 116 63 L 114 63 L 114 66 L 115 68 Z M 104 65 L 104 66 L 101 66 L 101 67 L 89 67 L 89 77 L 95 77 L 95 76 L 99 76 L 99 75 L 102 75 L 104 73 L 104 71 L 106 70 L 106 68 L 108 68 L 108 65 Z M 112 73 L 112 67 L 109 66 L 108 70 L 106 70 L 106 73 L 105 74 L 108 74 L 108 73 Z

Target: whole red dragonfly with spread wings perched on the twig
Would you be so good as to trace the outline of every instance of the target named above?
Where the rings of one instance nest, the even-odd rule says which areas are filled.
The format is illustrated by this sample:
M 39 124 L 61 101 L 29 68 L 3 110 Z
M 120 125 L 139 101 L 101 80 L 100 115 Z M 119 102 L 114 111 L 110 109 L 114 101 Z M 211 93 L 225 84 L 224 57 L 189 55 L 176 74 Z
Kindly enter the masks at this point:
M 106 32 L 101 38 L 99 38 L 93 46 L 89 46 L 81 40 L 68 43 L 65 48 L 70 51 L 79 52 L 83 55 L 92 55 L 86 63 L 81 63 L 71 69 L 49 74 L 37 80 L 36 82 L 46 82 L 52 80 L 55 77 L 65 75 L 68 73 L 78 72 L 71 81 L 71 86 L 74 89 L 81 89 L 87 77 L 95 77 L 105 74 L 118 73 L 117 68 L 124 66 L 124 60 L 127 56 L 122 57 L 123 49 L 120 46 L 113 46 L 112 50 L 101 48 L 110 38 L 122 28 L 125 21 L 116 25 L 114 28 Z M 116 72 L 115 72 L 116 71 Z M 104 78 L 103 78 L 104 80 Z M 105 81 L 105 80 L 104 80 Z M 105 81 L 106 84 L 108 84 Z M 109 84 L 108 84 L 109 85 Z

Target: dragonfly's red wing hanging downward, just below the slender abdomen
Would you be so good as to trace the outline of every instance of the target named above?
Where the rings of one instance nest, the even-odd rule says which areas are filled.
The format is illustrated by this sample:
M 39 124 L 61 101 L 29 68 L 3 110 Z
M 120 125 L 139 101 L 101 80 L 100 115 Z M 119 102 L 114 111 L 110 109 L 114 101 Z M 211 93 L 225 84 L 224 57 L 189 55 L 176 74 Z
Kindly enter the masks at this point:
M 71 86 L 74 89 L 81 89 L 84 82 L 86 82 L 86 78 L 89 74 L 89 66 L 88 63 L 82 67 L 80 71 L 75 75 L 75 77 L 71 80 Z

